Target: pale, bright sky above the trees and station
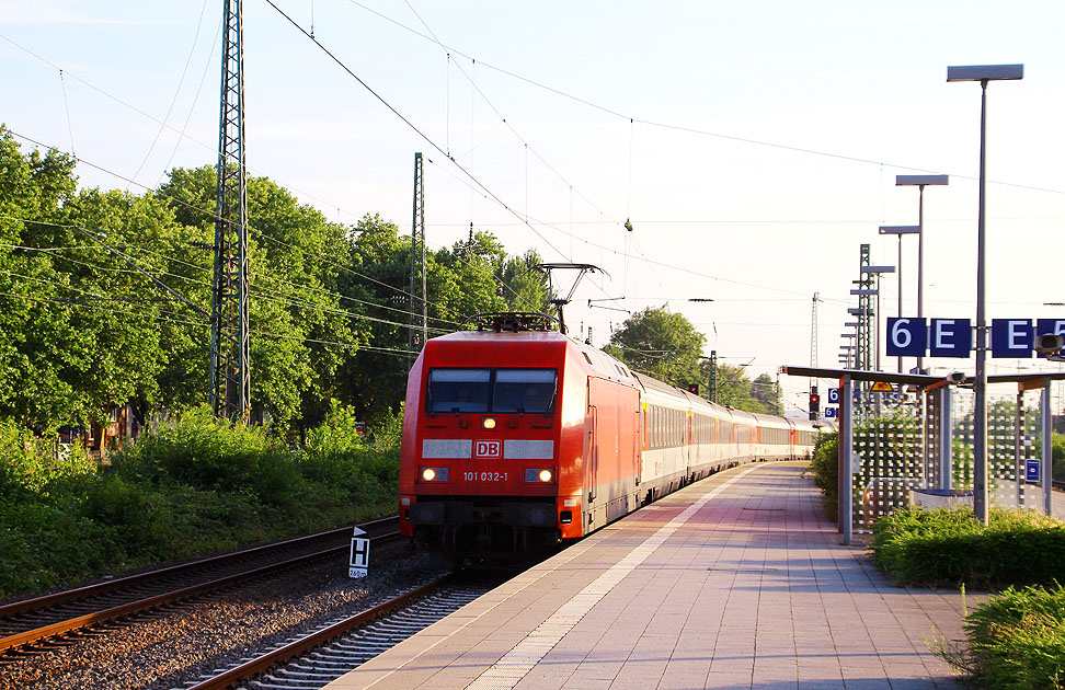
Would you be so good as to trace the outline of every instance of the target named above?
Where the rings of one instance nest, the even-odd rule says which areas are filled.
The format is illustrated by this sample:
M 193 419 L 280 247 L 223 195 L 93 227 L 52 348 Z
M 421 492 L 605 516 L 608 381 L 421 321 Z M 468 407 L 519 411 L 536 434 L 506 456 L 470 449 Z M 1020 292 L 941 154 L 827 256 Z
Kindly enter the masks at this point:
M 77 154 L 85 187 L 139 194 L 214 164 L 221 15 L 0 0 L 0 122 L 24 150 Z M 602 346 L 627 312 L 667 306 L 705 354 L 776 378 L 811 364 L 817 294 L 816 360 L 834 368 L 860 245 L 898 264 L 878 227 L 917 222 L 898 174 L 950 175 L 925 193 L 924 312 L 975 322 L 981 94 L 947 83 L 951 65 L 1024 65 L 987 90 L 987 318 L 1065 318 L 1044 304 L 1065 302 L 1062 25 L 1052 0 L 243 0 L 249 172 L 331 220 L 410 232 L 421 151 L 432 249 L 472 223 L 512 254 L 603 269 L 576 288 L 572 333 Z M 916 315 L 916 267 L 906 237 L 884 317 L 900 286 Z M 809 381 L 780 383 L 804 407 Z

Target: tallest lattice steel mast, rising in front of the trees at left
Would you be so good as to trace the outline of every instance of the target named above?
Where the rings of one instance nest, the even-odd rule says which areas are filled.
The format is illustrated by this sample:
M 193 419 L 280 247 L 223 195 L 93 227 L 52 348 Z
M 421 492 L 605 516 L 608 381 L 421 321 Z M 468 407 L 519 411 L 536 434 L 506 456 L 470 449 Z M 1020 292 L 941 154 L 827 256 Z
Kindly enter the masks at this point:
M 251 412 L 251 367 L 248 356 L 243 28 L 240 0 L 224 0 L 224 3 L 208 398 L 215 414 L 247 422 Z

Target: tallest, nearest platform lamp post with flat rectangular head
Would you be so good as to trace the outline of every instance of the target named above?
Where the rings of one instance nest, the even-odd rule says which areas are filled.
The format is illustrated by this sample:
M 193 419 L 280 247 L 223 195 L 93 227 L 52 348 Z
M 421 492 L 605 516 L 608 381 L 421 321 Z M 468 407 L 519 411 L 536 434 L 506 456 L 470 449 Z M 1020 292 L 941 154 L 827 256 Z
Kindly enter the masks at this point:
M 1024 78 L 1023 65 L 948 67 L 947 81 L 980 82 L 980 200 L 976 211 L 976 380 L 973 422 L 973 513 L 987 525 L 987 329 L 984 325 L 984 197 L 987 187 L 987 82 Z

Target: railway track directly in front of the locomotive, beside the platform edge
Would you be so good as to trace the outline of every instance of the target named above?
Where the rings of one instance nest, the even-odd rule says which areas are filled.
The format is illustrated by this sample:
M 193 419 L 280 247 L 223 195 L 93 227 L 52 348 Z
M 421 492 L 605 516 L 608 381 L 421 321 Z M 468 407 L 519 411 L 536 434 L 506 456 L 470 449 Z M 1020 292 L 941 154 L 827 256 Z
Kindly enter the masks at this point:
M 497 582 L 446 575 L 318 632 L 186 685 L 185 690 L 321 688 L 473 601 Z

